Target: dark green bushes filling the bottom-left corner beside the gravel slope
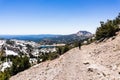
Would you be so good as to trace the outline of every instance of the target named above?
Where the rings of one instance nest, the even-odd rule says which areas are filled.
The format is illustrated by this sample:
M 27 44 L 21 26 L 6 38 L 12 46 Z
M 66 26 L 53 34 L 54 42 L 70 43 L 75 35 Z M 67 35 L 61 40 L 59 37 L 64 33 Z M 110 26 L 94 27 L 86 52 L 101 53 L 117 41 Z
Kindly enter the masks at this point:
M 0 72 L 0 80 L 9 80 L 10 76 L 17 74 L 25 69 L 28 69 L 31 65 L 27 56 L 8 56 L 12 61 L 12 67 L 6 69 L 4 72 Z

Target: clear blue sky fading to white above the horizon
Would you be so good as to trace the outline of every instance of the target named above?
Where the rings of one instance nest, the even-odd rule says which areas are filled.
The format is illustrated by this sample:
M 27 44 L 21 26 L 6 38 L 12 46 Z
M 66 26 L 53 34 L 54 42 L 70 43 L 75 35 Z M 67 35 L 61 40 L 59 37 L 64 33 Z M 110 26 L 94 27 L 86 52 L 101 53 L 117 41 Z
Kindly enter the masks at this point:
M 95 33 L 119 12 L 120 0 L 0 0 L 0 34 Z

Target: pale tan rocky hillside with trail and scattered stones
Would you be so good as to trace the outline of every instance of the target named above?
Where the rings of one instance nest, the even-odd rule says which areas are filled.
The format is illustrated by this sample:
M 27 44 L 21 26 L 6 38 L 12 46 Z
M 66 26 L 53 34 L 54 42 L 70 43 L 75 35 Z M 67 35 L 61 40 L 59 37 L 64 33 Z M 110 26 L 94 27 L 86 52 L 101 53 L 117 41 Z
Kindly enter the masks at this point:
M 74 48 L 10 80 L 120 80 L 120 33 L 114 38 Z

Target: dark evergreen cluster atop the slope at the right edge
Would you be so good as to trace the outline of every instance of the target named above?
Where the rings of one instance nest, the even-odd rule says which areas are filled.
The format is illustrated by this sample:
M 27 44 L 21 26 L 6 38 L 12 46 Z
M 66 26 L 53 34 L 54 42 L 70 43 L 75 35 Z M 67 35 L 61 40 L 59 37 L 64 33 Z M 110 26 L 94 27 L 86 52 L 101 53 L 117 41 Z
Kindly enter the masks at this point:
M 96 30 L 96 40 L 115 36 L 115 33 L 120 30 L 120 13 L 114 20 L 107 20 L 106 23 L 100 22 L 101 27 Z

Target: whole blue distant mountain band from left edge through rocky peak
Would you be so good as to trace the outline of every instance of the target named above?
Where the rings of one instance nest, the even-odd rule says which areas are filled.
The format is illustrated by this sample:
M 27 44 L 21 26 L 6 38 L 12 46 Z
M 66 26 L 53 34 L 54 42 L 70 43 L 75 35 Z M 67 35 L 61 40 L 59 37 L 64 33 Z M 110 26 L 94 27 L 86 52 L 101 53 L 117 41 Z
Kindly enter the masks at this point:
M 92 33 L 88 31 L 79 31 L 75 34 L 70 35 L 55 35 L 55 34 L 41 34 L 41 35 L 0 35 L 0 38 L 3 39 L 17 39 L 17 40 L 28 40 L 40 42 L 44 40 L 50 40 L 56 42 L 68 42 L 71 40 L 81 40 L 88 37 L 91 37 Z M 57 41 L 57 42 L 58 42 Z

